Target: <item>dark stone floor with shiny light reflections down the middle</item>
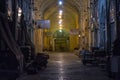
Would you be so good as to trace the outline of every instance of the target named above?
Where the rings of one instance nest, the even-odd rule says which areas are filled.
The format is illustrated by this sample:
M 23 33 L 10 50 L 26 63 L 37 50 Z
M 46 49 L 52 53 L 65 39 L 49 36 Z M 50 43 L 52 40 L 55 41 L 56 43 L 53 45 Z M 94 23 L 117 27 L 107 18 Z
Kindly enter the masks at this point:
M 50 53 L 48 66 L 38 74 L 24 74 L 17 80 L 112 80 L 99 67 L 84 66 L 73 53 Z

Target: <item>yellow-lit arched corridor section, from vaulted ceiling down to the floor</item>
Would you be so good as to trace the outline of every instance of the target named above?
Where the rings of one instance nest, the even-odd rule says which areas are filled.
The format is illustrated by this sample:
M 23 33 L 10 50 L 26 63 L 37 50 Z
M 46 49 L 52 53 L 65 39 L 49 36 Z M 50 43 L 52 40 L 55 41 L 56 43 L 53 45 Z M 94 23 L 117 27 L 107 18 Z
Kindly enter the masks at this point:
M 50 20 L 49 28 L 37 28 L 38 26 L 35 26 L 37 29 L 43 30 L 41 38 L 36 39 L 39 35 L 35 38 L 35 42 L 37 42 L 35 43 L 36 52 L 39 52 L 37 51 L 37 48 L 39 47 L 52 51 L 73 51 L 74 48 L 80 46 L 79 35 L 81 12 L 79 5 L 76 1 L 74 3 L 67 0 L 60 1 L 34 1 L 34 6 L 37 8 L 35 10 L 35 20 Z M 39 2 L 41 4 L 39 4 Z M 57 31 L 63 32 L 58 33 Z M 60 36 L 60 34 L 62 35 Z M 38 45 L 38 42 L 41 44 Z M 60 48 L 63 48 L 64 50 L 61 50 Z

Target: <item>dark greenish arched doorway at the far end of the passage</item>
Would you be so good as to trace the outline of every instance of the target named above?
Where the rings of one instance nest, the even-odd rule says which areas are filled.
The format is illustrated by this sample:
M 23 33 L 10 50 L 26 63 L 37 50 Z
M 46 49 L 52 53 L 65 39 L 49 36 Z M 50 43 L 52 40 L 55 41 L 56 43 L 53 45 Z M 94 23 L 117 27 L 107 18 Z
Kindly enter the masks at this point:
M 65 30 L 57 30 L 53 34 L 54 51 L 69 51 L 69 34 Z

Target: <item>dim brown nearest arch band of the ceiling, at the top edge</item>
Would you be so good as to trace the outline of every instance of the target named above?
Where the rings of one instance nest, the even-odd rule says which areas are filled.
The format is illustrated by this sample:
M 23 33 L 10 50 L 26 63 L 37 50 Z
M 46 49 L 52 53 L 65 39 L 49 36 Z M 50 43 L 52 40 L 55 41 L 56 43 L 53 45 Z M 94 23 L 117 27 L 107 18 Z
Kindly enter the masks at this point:
M 43 12 L 50 8 L 53 5 L 58 4 L 59 0 L 35 0 L 35 7 L 37 7 L 38 10 L 42 10 Z M 62 0 L 64 4 L 69 4 L 71 7 L 75 8 L 79 11 L 80 7 L 83 6 L 83 3 L 87 0 Z

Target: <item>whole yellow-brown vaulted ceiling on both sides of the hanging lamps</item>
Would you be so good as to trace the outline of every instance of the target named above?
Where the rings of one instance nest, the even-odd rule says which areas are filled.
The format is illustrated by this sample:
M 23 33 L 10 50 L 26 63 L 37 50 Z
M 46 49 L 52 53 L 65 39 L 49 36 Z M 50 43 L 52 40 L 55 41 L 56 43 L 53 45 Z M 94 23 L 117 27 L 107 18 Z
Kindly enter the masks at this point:
M 57 29 L 59 0 L 34 0 L 35 19 L 49 19 L 51 29 Z M 64 28 L 78 28 L 79 22 L 85 15 L 89 0 L 62 0 Z

